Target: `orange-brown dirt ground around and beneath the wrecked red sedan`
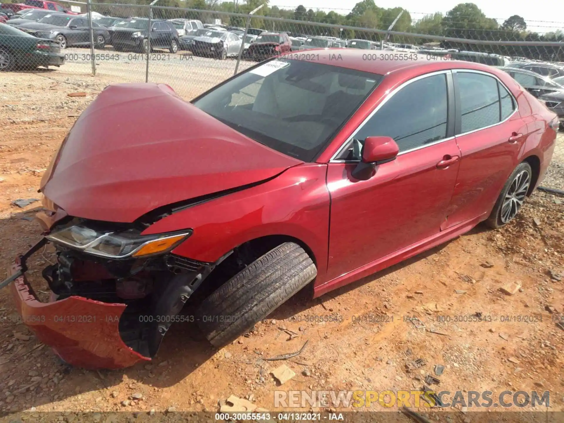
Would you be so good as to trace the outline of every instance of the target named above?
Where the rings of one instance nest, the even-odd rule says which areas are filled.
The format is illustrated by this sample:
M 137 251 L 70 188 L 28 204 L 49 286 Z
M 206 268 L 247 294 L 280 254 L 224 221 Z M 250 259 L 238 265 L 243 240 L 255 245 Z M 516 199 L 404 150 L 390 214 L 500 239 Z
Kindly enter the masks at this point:
M 11 202 L 39 198 L 36 190 L 52 153 L 76 116 L 111 82 L 109 76 L 62 71 L 2 74 L 0 279 L 16 254 L 39 238 L 38 224 L 30 220 L 39 203 L 20 209 Z M 76 91 L 87 95 L 67 96 Z M 232 394 L 274 409 L 276 389 L 420 389 L 421 379 L 442 364 L 441 390 L 549 391 L 550 409 L 564 411 L 564 329 L 556 324 L 564 311 L 563 203 L 537 191 L 501 230 L 480 226 L 316 300 L 298 293 L 222 350 L 202 341 L 195 328 L 173 325 L 154 363 L 121 371 L 61 364 L 18 323 L 4 289 L 0 410 L 67 412 L 67 421 L 69 413 L 81 411 L 215 412 Z M 29 261 L 29 279 L 42 295 L 47 293 L 40 270 L 50 260 L 47 250 Z M 521 289 L 502 293 L 510 283 Z M 482 321 L 464 318 L 477 313 Z M 326 315 L 338 321 L 315 321 Z M 264 360 L 297 351 L 306 341 L 296 358 Z M 425 364 L 408 372 L 406 363 L 417 358 Z M 296 376 L 277 387 L 270 371 L 283 363 Z M 132 400 L 137 393 L 142 398 Z

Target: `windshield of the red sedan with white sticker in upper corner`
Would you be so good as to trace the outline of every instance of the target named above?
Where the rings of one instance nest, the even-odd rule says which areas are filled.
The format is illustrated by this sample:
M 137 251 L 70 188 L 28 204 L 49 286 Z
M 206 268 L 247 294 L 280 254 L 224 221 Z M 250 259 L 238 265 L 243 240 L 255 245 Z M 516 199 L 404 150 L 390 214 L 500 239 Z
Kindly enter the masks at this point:
M 275 59 L 193 104 L 267 147 L 311 161 L 381 80 L 353 69 Z

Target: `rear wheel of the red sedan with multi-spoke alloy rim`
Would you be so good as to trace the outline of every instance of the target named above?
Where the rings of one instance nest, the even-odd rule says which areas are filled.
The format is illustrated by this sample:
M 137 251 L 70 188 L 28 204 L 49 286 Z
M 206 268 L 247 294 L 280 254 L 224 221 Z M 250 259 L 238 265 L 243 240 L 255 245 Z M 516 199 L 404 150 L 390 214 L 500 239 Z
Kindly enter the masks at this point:
M 488 226 L 494 229 L 500 228 L 517 215 L 531 186 L 531 179 L 532 170 L 527 162 L 515 168 L 497 197 L 490 217 L 486 221 Z

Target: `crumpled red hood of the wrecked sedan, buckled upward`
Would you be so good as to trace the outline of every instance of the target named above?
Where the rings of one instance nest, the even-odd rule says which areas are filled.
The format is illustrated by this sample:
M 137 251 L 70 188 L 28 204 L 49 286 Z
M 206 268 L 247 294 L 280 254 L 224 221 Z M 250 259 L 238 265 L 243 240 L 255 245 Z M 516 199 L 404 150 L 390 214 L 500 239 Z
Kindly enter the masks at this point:
M 86 108 L 53 163 L 41 191 L 69 215 L 133 222 L 302 162 L 224 125 L 168 85 L 125 83 Z

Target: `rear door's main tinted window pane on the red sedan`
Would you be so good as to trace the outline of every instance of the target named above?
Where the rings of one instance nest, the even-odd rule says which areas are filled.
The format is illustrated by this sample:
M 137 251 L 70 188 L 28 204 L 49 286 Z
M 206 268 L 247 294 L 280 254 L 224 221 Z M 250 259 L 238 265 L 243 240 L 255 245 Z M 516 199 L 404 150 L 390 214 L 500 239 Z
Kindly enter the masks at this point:
M 462 114 L 461 133 L 474 131 L 500 121 L 497 80 L 474 72 L 456 72 Z

